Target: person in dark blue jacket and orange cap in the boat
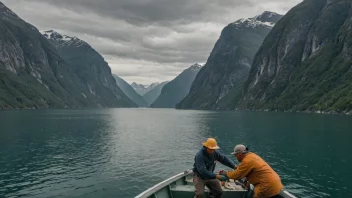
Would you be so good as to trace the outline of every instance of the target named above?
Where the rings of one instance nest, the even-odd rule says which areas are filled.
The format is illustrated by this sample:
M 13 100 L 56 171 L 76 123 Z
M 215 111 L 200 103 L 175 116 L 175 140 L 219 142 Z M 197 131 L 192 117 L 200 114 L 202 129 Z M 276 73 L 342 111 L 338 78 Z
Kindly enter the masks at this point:
M 193 183 L 195 186 L 195 198 L 203 197 L 204 187 L 210 189 L 210 193 L 215 198 L 220 198 L 222 188 L 220 181 L 226 181 L 228 178 L 224 175 L 215 174 L 216 161 L 231 168 L 236 169 L 235 164 L 225 155 L 216 151 L 219 149 L 214 138 L 208 138 L 203 142 L 203 148 L 196 154 L 193 165 Z

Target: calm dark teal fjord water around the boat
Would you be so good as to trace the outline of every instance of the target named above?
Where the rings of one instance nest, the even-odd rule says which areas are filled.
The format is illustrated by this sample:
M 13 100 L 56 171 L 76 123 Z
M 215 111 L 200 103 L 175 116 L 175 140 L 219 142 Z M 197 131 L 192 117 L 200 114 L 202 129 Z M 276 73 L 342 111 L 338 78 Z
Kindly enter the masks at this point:
M 134 197 L 210 136 L 233 160 L 249 145 L 299 197 L 352 197 L 352 116 L 166 109 L 1 111 L 0 197 Z

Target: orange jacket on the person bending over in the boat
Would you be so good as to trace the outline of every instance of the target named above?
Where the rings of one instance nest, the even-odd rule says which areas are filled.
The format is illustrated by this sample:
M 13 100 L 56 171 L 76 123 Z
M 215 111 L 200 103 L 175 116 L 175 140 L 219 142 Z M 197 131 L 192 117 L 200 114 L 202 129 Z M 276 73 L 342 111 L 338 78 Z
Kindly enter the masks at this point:
M 277 195 L 283 189 L 279 175 L 258 155 L 248 153 L 237 167 L 227 172 L 227 177 L 238 180 L 247 177 L 254 187 L 254 198 Z

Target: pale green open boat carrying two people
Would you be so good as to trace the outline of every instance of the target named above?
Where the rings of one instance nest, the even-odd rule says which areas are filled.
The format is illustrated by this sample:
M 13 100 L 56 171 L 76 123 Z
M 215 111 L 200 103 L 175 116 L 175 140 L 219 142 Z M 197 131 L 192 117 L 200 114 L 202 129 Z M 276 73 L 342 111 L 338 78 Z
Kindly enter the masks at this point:
M 219 181 L 220 182 L 220 181 Z M 221 182 L 223 195 L 222 198 L 252 198 L 254 186 L 252 184 L 245 185 L 243 180 L 229 180 Z M 193 198 L 193 171 L 186 170 L 175 176 L 172 176 L 155 186 L 140 193 L 135 198 Z M 203 197 L 209 195 L 209 189 L 205 187 Z M 286 190 L 280 192 L 282 198 L 296 198 Z

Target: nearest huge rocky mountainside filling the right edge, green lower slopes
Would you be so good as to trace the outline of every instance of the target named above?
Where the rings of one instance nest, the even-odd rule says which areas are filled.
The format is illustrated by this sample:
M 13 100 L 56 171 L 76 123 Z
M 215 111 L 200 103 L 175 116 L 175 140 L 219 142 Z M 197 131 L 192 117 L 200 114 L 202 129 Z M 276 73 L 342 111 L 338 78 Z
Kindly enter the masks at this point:
M 305 0 L 267 36 L 239 109 L 352 113 L 352 1 Z

